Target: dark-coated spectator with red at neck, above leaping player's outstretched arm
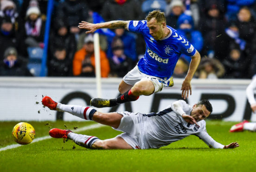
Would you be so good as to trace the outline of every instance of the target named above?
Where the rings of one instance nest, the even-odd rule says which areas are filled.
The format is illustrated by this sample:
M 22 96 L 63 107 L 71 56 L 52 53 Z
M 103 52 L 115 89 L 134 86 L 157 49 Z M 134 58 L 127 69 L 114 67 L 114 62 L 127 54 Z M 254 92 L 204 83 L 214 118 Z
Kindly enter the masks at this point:
M 102 7 L 101 14 L 105 21 L 116 20 L 116 18 L 141 20 L 144 17 L 137 0 L 107 0 Z

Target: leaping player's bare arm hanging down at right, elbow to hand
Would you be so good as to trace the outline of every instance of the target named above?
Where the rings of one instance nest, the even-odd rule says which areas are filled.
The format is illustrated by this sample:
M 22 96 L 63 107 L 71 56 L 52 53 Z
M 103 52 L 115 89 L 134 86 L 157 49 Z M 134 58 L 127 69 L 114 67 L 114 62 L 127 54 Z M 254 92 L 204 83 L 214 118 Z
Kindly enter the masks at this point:
M 189 92 L 190 92 L 190 95 L 192 94 L 192 87 L 191 87 L 190 82 L 198 68 L 200 60 L 201 60 L 201 56 L 197 51 L 196 54 L 194 56 L 192 56 L 192 60 L 189 65 L 187 75 L 186 75 L 185 80 L 183 81 L 181 89 L 180 89 L 180 90 L 182 90 L 181 97 L 184 99 L 188 98 Z

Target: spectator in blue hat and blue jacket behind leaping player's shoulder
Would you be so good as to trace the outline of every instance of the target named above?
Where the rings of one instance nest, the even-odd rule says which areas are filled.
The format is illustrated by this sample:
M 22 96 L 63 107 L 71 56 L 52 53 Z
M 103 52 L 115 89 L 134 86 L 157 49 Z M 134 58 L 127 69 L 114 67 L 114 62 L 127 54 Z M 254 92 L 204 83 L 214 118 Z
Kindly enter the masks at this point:
M 194 30 L 193 18 L 186 14 L 181 14 L 177 21 L 178 33 L 187 38 L 187 40 L 194 46 L 195 49 L 200 52 L 203 48 L 203 37 L 200 31 Z M 191 57 L 182 55 L 188 62 L 191 61 Z

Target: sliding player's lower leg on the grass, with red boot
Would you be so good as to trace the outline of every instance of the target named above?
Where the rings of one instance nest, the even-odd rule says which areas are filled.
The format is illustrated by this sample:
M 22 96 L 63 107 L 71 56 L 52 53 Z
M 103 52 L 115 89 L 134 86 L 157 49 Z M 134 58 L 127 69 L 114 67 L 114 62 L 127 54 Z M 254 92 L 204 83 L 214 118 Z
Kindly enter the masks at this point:
M 73 140 L 77 145 L 90 149 L 132 149 L 122 137 L 100 140 L 90 135 L 76 134 L 69 129 L 51 129 L 49 135 L 53 138 L 64 138 Z

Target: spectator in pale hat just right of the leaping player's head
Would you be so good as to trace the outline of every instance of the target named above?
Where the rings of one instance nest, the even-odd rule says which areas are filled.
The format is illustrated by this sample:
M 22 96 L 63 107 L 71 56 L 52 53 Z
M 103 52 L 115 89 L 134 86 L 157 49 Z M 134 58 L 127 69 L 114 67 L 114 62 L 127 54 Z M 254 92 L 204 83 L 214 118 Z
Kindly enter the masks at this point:
M 166 11 L 166 25 L 171 26 L 174 29 L 178 29 L 177 21 L 184 11 L 185 6 L 181 0 L 172 0 Z

